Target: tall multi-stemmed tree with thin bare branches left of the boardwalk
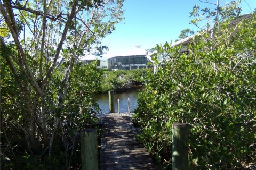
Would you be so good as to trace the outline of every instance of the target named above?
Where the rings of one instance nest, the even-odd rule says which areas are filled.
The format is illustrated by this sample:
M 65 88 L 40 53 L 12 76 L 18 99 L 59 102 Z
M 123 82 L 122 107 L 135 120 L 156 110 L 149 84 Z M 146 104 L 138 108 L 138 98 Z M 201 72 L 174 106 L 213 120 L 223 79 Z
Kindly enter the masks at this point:
M 90 120 L 86 108 L 95 106 L 92 96 L 99 80 L 93 67 L 86 67 L 91 74 L 81 77 L 85 73 L 77 61 L 89 50 L 101 53 L 107 48 L 100 40 L 123 19 L 122 6 L 122 0 L 0 1 L 1 132 L 6 134 L 1 133 L 1 142 L 12 143 L 6 144 L 6 160 L 17 162 L 23 154 L 47 162 L 46 155 L 61 151 L 66 152 L 63 165 L 70 168 L 75 136 L 82 120 Z M 71 107 L 79 95 L 81 103 Z

